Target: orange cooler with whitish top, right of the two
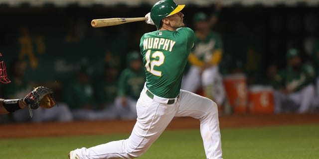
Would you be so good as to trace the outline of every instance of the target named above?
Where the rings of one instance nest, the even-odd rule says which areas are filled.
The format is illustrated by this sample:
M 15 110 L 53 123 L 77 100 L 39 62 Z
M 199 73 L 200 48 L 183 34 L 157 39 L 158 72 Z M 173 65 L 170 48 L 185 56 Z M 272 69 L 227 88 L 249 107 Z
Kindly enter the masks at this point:
M 273 113 L 274 112 L 274 93 L 271 86 L 255 85 L 248 89 L 249 112 Z

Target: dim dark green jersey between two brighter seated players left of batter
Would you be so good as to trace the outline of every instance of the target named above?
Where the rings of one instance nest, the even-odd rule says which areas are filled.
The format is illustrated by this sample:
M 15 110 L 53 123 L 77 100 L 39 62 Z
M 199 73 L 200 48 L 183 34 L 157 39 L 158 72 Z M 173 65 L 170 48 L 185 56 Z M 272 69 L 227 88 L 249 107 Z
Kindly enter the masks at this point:
M 101 81 L 97 84 L 96 95 L 97 102 L 111 104 L 117 96 L 118 82 L 117 80 L 112 81 Z

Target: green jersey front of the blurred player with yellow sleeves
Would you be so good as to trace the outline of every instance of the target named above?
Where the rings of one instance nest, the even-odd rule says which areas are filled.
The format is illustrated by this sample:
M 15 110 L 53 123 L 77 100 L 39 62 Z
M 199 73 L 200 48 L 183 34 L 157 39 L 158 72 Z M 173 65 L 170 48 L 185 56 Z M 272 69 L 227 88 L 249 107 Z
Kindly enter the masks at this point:
M 192 52 L 199 60 L 207 63 L 211 60 L 213 51 L 222 49 L 222 45 L 222 41 L 216 32 L 210 31 L 205 39 L 201 39 L 195 34 Z

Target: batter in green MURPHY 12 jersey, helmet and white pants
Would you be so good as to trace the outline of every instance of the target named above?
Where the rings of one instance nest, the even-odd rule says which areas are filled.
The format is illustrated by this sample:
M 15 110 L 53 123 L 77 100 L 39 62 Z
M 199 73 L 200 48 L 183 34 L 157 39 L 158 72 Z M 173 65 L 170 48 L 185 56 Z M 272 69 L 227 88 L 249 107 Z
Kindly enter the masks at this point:
M 71 151 L 69 159 L 134 159 L 159 138 L 173 117 L 200 120 L 207 159 L 222 159 L 217 105 L 212 100 L 181 90 L 181 78 L 194 44 L 194 32 L 184 27 L 185 5 L 160 0 L 146 14 L 157 31 L 141 38 L 146 83 L 138 99 L 137 122 L 126 140 Z

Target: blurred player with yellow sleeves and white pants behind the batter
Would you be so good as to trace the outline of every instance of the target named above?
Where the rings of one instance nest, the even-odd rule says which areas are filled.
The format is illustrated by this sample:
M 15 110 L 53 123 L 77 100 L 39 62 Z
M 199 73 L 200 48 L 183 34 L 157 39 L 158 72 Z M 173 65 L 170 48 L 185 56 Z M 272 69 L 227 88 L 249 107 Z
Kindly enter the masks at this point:
M 222 41 L 218 34 L 210 29 L 211 23 L 205 13 L 196 13 L 193 23 L 195 41 L 188 57 L 191 67 L 184 78 L 182 88 L 196 92 L 202 87 L 204 96 L 214 100 L 217 105 L 222 105 L 225 90 L 218 67 L 222 59 Z

